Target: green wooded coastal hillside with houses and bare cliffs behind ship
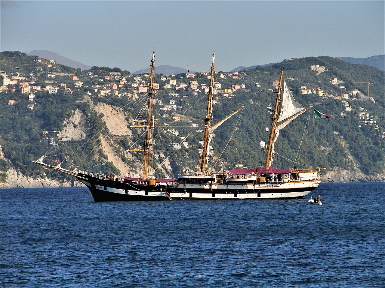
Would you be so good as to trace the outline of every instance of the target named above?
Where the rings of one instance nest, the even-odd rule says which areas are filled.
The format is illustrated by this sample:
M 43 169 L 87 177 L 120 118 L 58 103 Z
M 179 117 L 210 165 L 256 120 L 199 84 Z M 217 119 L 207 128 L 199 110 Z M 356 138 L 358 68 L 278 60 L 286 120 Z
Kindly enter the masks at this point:
M 294 167 L 325 167 L 326 181 L 383 180 L 384 71 L 327 56 L 218 71 L 214 122 L 245 107 L 215 130 L 213 156 L 220 160 L 211 169 L 263 166 L 259 142 L 268 142 L 266 107 L 275 102 L 282 67 L 296 100 L 330 119 L 304 113 L 281 130 L 274 167 L 291 168 L 288 159 L 296 159 Z M 129 126 L 146 99 L 141 92 L 146 75 L 109 67 L 74 69 L 19 51 L 2 52 L 0 70 L 0 187 L 16 177 L 13 171 L 25 180 L 59 179 L 32 163 L 45 153 L 52 165 L 136 175 L 141 158 L 126 151 L 141 147 L 142 132 Z M 191 74 L 156 75 L 154 109 L 164 127 L 156 131 L 157 177 L 196 170 L 198 164 L 209 79 L 204 71 Z

